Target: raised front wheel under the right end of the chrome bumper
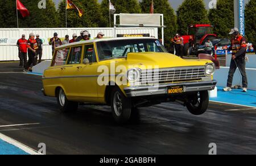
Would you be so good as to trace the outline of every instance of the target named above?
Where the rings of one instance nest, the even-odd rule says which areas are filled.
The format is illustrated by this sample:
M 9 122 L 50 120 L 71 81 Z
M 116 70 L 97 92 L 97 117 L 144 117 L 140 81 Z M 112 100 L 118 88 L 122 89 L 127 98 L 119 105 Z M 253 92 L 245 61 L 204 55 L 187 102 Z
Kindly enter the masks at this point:
M 186 104 L 188 111 L 193 115 L 204 114 L 209 105 L 208 91 L 201 91 L 189 96 L 191 100 Z

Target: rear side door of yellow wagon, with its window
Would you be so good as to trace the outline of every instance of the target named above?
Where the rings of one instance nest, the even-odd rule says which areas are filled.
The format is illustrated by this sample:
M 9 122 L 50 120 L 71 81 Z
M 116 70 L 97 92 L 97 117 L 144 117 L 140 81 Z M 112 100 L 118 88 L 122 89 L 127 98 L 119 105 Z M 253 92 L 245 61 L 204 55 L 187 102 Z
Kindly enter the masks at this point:
M 68 98 L 76 98 L 78 96 L 79 89 L 77 88 L 76 77 L 81 66 L 82 48 L 82 45 L 71 47 L 67 64 L 61 68 L 61 83 Z

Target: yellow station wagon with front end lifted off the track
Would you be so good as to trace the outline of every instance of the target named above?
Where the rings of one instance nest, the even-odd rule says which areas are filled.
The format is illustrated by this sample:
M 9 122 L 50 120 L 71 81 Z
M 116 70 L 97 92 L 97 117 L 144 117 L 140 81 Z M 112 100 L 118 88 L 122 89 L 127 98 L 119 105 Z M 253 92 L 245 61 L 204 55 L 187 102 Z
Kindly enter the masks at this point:
M 138 107 L 179 102 L 203 114 L 213 90 L 215 66 L 209 60 L 184 60 L 155 38 L 113 38 L 57 47 L 44 71 L 43 93 L 57 97 L 61 111 L 79 103 L 111 106 L 118 123 L 129 121 Z

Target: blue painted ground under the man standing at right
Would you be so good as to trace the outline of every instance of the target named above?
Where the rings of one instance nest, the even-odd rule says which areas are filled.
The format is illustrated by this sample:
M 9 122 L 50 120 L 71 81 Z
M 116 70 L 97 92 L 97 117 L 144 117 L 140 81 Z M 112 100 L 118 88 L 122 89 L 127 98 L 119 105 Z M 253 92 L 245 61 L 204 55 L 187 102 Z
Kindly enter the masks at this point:
M 210 98 L 210 101 L 256 107 L 256 91 L 248 90 L 245 93 L 242 89 L 232 89 L 230 92 L 224 92 L 223 87 L 218 87 L 218 97 Z

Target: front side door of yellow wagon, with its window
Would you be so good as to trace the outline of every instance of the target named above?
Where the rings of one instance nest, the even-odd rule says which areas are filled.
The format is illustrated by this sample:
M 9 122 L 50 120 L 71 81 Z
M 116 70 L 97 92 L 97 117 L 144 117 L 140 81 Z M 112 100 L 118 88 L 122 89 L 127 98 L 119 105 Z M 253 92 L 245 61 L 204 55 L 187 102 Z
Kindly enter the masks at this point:
M 88 59 L 89 64 L 81 64 L 77 74 L 77 88 L 79 89 L 79 97 L 86 102 L 94 102 L 97 100 L 97 68 L 96 52 L 94 44 L 84 45 L 84 56 L 82 59 Z

